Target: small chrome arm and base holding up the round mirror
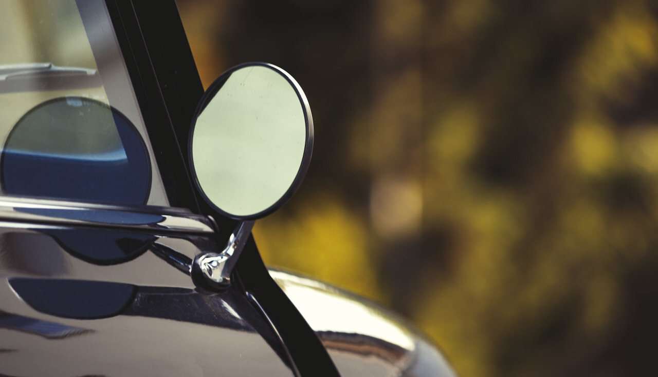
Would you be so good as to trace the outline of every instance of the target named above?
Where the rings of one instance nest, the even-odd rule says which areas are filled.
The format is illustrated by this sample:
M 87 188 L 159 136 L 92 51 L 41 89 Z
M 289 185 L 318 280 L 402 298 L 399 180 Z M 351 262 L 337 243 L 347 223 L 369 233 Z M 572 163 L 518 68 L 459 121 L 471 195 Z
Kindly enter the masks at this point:
M 192 264 L 192 277 L 202 278 L 210 288 L 226 288 L 254 223 L 255 220 L 240 221 L 221 253 L 197 255 Z

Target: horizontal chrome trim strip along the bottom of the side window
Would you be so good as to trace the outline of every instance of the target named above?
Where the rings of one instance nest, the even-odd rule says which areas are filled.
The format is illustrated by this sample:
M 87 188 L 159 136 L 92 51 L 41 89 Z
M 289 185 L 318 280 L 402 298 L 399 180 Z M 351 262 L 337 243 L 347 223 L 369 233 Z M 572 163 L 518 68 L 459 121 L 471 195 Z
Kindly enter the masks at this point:
M 204 216 L 184 208 L 107 206 L 58 200 L 0 198 L 0 220 L 18 223 L 103 227 L 148 231 L 155 234 L 213 234 Z

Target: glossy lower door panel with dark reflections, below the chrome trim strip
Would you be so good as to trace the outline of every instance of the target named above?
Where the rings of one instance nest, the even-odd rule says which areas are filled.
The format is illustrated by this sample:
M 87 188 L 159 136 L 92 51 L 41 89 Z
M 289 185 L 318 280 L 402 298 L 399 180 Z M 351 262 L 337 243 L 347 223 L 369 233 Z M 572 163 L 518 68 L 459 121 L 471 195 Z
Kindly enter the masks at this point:
M 84 229 L 6 220 L 0 375 L 291 375 L 284 347 L 243 292 L 199 290 L 189 271 L 166 260 L 191 261 L 199 248 L 214 246 L 207 236 L 153 233 L 162 248 L 98 265 L 63 250 L 49 234 Z M 88 239 L 87 246 L 94 243 Z

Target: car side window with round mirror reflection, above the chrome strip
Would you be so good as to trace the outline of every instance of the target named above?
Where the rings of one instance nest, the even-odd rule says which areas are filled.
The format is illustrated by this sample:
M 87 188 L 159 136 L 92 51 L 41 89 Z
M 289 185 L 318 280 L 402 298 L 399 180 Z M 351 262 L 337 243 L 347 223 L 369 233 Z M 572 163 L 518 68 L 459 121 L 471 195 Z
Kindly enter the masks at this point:
M 168 206 L 104 1 L 0 2 L 3 195 Z

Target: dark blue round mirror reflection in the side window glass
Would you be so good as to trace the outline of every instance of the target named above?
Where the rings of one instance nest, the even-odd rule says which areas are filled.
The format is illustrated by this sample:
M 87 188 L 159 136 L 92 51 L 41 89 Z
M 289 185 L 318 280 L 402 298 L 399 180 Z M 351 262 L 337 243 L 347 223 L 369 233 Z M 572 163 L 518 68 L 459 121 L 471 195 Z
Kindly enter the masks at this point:
M 0 157 L 10 195 L 145 204 L 151 162 L 134 125 L 97 100 L 39 104 L 14 126 Z

